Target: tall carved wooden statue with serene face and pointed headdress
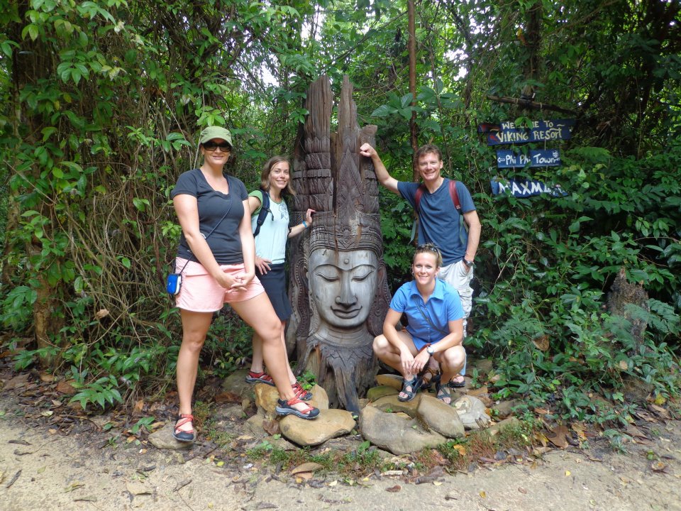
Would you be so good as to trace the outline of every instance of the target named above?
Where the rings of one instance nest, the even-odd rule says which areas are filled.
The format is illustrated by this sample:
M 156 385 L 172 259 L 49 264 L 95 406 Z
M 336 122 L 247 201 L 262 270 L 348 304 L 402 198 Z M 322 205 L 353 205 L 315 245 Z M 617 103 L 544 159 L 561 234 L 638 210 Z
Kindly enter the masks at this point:
M 331 133 L 328 77 L 307 93 L 310 113 L 294 155 L 294 221 L 309 207 L 317 213 L 309 236 L 292 248 L 287 343 L 295 342 L 300 370 L 316 375 L 332 407 L 358 411 L 358 396 L 376 373 L 372 341 L 382 331 L 390 294 L 376 175 L 358 152 L 362 143 L 374 143 L 376 126 L 359 128 L 352 93 L 345 77 L 338 133 Z

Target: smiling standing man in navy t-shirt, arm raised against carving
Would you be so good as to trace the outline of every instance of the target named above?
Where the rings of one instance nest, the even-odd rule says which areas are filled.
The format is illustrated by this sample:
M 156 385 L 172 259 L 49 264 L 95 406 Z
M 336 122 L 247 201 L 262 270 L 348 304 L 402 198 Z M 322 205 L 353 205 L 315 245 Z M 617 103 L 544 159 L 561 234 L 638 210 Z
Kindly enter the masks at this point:
M 438 277 L 448 282 L 458 291 L 463 306 L 463 332 L 466 334 L 466 319 L 472 307 L 473 266 L 477 246 L 480 243 L 480 219 L 475 210 L 470 192 L 462 182 L 456 183 L 456 191 L 461 210 L 458 211 L 450 194 L 450 180 L 442 175 L 442 153 L 437 145 L 423 145 L 416 151 L 416 165 L 423 179 L 423 190 L 418 207 L 416 191 L 420 184 L 398 181 L 385 168 L 375 148 L 370 144 L 360 147 L 360 155 L 371 158 L 377 180 L 391 192 L 402 195 L 419 215 L 419 243 L 433 243 L 440 248 L 443 267 Z M 468 231 L 460 225 L 463 215 Z M 463 386 L 463 374 L 455 378 L 455 385 Z

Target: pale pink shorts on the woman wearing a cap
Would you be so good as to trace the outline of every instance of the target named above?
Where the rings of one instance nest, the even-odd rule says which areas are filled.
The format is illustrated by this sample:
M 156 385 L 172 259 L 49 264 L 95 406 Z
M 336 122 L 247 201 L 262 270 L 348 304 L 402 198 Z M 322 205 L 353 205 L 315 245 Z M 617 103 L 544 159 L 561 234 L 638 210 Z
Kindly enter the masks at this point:
M 177 258 L 175 271 L 182 270 L 184 263 L 187 263 L 187 259 Z M 243 264 L 220 265 L 220 268 L 233 276 L 245 271 Z M 265 289 L 258 277 L 253 277 L 245 290 L 225 289 L 216 282 L 201 263 L 189 261 L 182 271 L 182 287 L 175 297 L 175 305 L 192 312 L 216 312 L 226 303 L 250 300 L 263 292 Z

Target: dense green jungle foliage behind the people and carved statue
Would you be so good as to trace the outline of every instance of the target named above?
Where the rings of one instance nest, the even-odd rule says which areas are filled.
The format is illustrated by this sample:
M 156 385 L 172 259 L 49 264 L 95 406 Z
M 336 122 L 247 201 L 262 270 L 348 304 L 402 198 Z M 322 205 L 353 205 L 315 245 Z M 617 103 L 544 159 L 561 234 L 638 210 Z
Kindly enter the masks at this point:
M 395 177 L 411 180 L 414 145 L 433 142 L 445 174 L 474 194 L 483 232 L 467 342 L 494 358 L 498 397 L 602 424 L 626 420 L 632 382 L 658 403 L 676 397 L 680 8 L 672 0 L 4 2 L 2 343 L 16 368 L 75 380 L 87 406 L 172 385 L 180 326 L 162 283 L 179 226 L 168 194 L 196 164 L 199 130 L 233 131 L 229 172 L 253 188 L 269 155 L 292 153 L 309 83 L 326 74 L 338 93 L 348 75 L 360 124 L 377 124 Z M 497 169 L 477 126 L 538 119 L 575 119 L 569 140 L 530 145 L 558 148 L 562 165 Z M 567 194 L 494 196 L 499 175 Z M 381 207 L 394 289 L 408 275 L 412 217 L 389 193 Z M 612 289 L 620 272 L 629 295 Z M 222 314 L 203 373 L 229 373 L 249 344 L 248 328 Z

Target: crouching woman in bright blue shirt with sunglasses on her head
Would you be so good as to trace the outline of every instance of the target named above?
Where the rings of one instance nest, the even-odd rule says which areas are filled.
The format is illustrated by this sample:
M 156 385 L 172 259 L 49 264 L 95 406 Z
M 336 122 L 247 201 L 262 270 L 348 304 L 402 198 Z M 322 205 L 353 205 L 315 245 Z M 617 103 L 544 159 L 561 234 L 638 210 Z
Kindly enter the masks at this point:
M 437 278 L 442 255 L 432 243 L 416 248 L 411 273 L 414 280 L 397 290 L 383 322 L 383 335 L 374 339 L 374 352 L 383 363 L 399 371 L 404 378 L 400 401 L 411 401 L 423 380 L 421 373 L 440 366 L 433 376 L 437 397 L 447 405 L 452 402 L 453 378 L 465 361 L 463 348 L 463 307 L 458 292 Z M 402 314 L 409 324 L 398 330 Z M 433 371 L 434 372 L 434 371 Z

